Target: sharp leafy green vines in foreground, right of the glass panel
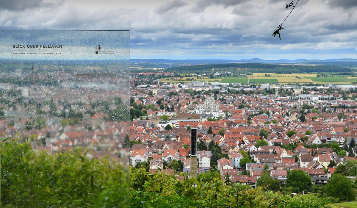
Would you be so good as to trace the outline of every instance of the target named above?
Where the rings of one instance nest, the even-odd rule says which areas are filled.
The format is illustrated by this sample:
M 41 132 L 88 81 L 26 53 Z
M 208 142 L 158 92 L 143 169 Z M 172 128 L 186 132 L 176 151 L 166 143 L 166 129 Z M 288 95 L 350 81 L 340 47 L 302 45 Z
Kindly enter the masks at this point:
M 226 185 L 221 177 L 191 179 L 183 173 L 180 176 L 161 171 L 150 174 L 145 168 L 130 171 L 130 207 L 321 208 L 327 207 L 331 200 L 314 194 L 291 197 L 240 183 Z

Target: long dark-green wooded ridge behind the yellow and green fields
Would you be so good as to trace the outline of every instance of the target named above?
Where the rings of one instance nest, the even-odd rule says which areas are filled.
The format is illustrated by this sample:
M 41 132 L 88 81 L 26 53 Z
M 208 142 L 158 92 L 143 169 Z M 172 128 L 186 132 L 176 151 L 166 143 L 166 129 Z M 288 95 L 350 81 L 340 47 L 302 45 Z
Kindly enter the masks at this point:
M 241 72 L 241 73 L 317 73 L 317 72 L 344 72 L 353 71 L 350 68 L 339 66 L 300 66 L 279 64 L 205 64 L 195 66 L 180 66 L 165 70 L 180 73 L 205 73 L 205 72 Z

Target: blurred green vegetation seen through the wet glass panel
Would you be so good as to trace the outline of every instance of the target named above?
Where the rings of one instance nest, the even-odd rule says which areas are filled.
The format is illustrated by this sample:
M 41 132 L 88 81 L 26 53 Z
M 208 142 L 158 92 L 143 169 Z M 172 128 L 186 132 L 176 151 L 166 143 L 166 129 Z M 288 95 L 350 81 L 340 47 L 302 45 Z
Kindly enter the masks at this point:
M 1 141 L 2 207 L 128 207 L 128 172 L 87 151 L 52 155 Z

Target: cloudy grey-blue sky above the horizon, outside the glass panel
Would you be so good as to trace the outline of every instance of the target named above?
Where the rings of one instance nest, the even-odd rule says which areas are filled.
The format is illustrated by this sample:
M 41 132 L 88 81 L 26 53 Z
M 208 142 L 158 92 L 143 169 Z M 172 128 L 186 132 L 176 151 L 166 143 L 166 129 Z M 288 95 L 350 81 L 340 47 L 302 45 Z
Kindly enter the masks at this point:
M 296 3 L 297 0 L 294 0 Z M 130 30 L 131 59 L 357 58 L 357 1 L 0 0 L 0 29 Z

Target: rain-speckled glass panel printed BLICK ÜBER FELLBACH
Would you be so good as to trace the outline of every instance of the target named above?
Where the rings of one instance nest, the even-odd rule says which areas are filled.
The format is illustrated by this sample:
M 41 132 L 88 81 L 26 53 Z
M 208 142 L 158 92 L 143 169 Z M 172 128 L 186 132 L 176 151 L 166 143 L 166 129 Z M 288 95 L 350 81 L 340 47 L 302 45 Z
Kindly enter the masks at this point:
M 127 207 L 129 31 L 0 30 L 1 205 Z

